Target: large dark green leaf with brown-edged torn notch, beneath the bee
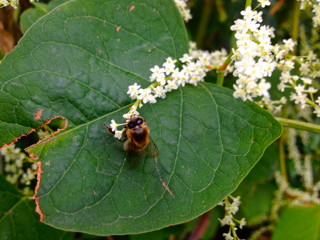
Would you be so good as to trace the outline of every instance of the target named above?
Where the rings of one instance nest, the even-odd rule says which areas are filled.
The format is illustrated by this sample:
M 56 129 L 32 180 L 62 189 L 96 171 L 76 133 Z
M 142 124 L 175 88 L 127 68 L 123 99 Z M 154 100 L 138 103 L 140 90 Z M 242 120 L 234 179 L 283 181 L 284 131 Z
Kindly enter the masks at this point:
M 124 122 L 128 86 L 148 86 L 150 68 L 186 52 L 173 1 L 79 0 L 37 21 L 4 58 L 3 143 L 47 119 L 68 121 L 28 148 L 42 164 L 37 197 L 45 223 L 113 235 L 191 220 L 233 192 L 279 137 L 281 125 L 258 105 L 214 84 L 188 85 L 139 110 L 160 155 L 158 164 L 146 158 L 132 169 L 103 123 Z

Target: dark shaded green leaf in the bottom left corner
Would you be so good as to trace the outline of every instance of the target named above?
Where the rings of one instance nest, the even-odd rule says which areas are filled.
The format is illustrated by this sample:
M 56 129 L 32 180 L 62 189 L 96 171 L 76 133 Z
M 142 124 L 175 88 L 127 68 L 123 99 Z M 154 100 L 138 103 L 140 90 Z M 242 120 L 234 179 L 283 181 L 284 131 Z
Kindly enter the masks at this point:
M 0 239 L 6 240 L 71 240 L 67 232 L 39 222 L 36 204 L 22 195 L 0 174 Z

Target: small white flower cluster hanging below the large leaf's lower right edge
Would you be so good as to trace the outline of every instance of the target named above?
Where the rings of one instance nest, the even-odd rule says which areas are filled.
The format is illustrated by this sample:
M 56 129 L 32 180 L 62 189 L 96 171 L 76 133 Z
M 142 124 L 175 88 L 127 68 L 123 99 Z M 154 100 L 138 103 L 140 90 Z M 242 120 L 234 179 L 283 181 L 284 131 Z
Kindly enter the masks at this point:
M 232 199 L 232 203 L 230 203 L 229 201 L 229 197 Z M 236 212 L 238 212 L 239 210 L 239 205 L 240 205 L 240 196 L 237 196 L 237 197 L 232 197 L 231 195 L 229 195 L 227 198 L 225 198 L 219 205 L 223 206 L 225 205 L 225 216 L 223 219 L 219 219 L 220 221 L 220 224 L 221 226 L 224 226 L 224 225 L 228 225 L 230 226 L 229 228 L 229 232 L 228 233 L 224 233 L 223 236 L 225 237 L 226 240 L 228 239 L 234 239 L 233 236 L 237 238 L 237 235 L 236 235 L 236 230 L 237 228 L 235 227 L 236 226 L 236 223 L 239 223 L 240 226 L 239 228 L 242 229 L 243 226 L 246 224 L 246 221 L 245 219 L 241 219 L 241 220 L 236 220 L 233 215 L 236 214 Z M 232 236 L 233 235 L 233 236 Z

